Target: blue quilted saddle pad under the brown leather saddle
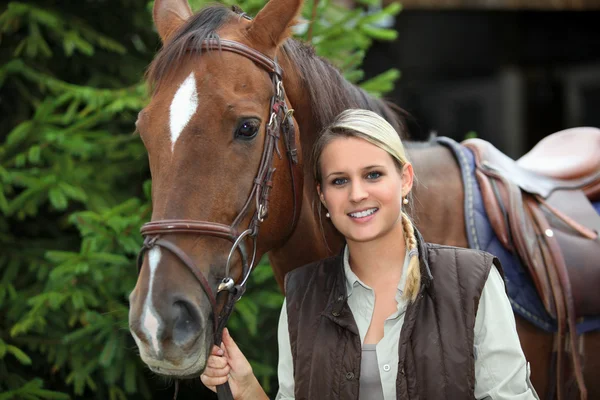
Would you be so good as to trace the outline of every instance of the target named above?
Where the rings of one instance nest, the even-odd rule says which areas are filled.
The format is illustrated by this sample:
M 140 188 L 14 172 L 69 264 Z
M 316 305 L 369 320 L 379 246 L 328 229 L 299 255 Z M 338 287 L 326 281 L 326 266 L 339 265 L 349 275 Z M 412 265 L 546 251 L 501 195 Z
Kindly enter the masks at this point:
M 469 247 L 498 257 L 502 264 L 508 298 L 515 313 L 546 332 L 556 332 L 556 320 L 544 308 L 529 273 L 521 266 L 518 257 L 508 251 L 494 234 L 475 178 L 473 153 L 453 139 L 438 137 L 436 140 L 452 151 L 461 169 Z M 600 204 L 594 204 L 594 208 L 600 214 Z M 600 330 L 600 316 L 585 317 L 577 323 L 579 334 L 595 330 Z

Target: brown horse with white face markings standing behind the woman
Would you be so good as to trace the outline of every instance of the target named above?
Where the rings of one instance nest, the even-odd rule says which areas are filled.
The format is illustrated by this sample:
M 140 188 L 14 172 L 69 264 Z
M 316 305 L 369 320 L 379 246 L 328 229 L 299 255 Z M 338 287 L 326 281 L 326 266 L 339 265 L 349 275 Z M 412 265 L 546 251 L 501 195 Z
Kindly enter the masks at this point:
M 136 124 L 150 161 L 152 221 L 186 219 L 229 226 L 236 220 L 243 230 L 259 213 L 248 199 L 261 168 L 276 89 L 256 60 L 234 51 L 200 49 L 205 39 L 220 38 L 278 60 L 286 103 L 295 110 L 294 145 L 300 160 L 290 167 L 289 153 L 273 157 L 269 214 L 260 226 L 256 257 L 268 253 L 281 287 L 287 272 L 337 253 L 343 243 L 313 207 L 315 182 L 310 163 L 302 163 L 318 132 L 347 108 L 374 110 L 402 131 L 401 120 L 386 103 L 345 81 L 311 48 L 289 39 L 300 7 L 301 0 L 271 0 L 250 20 L 220 6 L 193 15 L 187 0 L 156 0 L 154 22 L 164 46 L 148 71 L 151 102 Z M 409 145 L 409 155 L 418 177 L 412 214 L 424 238 L 467 247 L 463 187 L 453 155 L 431 143 Z M 301 168 L 296 177 L 295 168 Z M 297 200 L 293 188 L 300 188 Z M 215 291 L 229 275 L 225 265 L 231 265 L 230 274 L 239 282 L 242 257 L 249 257 L 232 251 L 231 243 L 218 235 L 177 231 L 163 237 L 176 244 L 189 263 L 183 265 L 184 256 L 159 247 L 146 253 L 130 297 L 130 330 L 150 369 L 172 377 L 198 376 L 216 322 L 211 319 L 210 296 L 196 278 L 206 277 L 206 285 Z M 242 247 L 250 246 L 249 240 L 240 241 Z M 553 335 L 516 319 L 533 384 L 544 396 Z M 590 398 L 599 398 L 600 381 L 594 375 L 600 370 L 600 335 L 587 334 L 584 345 L 588 392 Z

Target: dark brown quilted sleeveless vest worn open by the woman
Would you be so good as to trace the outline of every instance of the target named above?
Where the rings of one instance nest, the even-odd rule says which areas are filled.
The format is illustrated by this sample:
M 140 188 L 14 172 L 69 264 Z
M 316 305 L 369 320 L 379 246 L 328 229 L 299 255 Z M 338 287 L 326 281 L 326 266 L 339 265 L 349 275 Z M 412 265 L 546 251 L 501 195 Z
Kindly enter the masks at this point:
M 419 237 L 420 239 L 420 237 Z M 473 399 L 473 329 L 491 254 L 419 240 L 422 285 L 400 334 L 397 399 Z M 425 255 L 425 257 L 423 257 Z M 295 398 L 358 399 L 361 343 L 342 256 L 286 276 Z

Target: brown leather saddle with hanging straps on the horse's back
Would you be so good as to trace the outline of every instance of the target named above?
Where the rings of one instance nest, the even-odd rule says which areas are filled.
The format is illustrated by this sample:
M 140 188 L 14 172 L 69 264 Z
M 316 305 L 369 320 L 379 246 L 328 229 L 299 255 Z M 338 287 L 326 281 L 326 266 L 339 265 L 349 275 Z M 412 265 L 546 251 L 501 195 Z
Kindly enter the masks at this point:
M 563 342 L 585 398 L 576 319 L 600 315 L 600 129 L 575 128 L 540 141 L 514 161 L 481 139 L 473 151 L 488 218 L 502 244 L 516 254 L 558 325 L 558 393 Z

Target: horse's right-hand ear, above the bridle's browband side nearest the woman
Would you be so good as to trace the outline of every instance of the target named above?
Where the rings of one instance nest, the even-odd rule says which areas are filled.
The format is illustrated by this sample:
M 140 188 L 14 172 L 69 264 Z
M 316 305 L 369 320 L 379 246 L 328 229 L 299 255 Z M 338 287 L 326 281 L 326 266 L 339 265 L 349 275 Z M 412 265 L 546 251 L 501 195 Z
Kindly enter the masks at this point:
M 251 40 L 268 49 L 279 46 L 290 35 L 301 8 L 302 0 L 270 0 L 248 28 Z

